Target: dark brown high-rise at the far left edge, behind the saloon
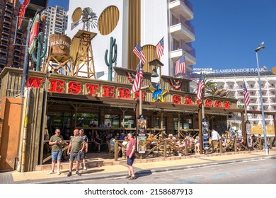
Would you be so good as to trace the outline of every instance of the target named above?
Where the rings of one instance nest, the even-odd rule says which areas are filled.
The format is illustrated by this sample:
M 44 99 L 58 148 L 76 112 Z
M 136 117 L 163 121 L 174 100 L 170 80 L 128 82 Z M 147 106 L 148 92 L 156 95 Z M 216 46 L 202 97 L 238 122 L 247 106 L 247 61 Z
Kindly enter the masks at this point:
M 0 1 L 0 71 L 5 66 L 23 68 L 26 33 L 18 30 L 13 45 L 20 6 L 18 0 Z

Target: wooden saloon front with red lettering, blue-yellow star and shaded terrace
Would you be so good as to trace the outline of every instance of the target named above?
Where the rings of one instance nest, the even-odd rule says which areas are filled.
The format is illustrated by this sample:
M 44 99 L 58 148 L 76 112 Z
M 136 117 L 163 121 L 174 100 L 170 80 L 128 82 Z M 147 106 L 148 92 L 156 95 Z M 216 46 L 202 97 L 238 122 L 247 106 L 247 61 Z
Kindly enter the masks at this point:
M 18 128 L 21 133 L 25 129 L 27 134 L 36 134 L 35 139 L 40 144 L 27 146 L 28 155 L 24 161 L 28 161 L 28 168 L 25 171 L 34 170 L 35 165 L 43 163 L 43 146 L 56 128 L 61 129 L 66 140 L 69 140 L 74 128 L 83 128 L 91 139 L 96 131 L 101 134 L 136 132 L 139 105 L 142 105 L 149 134 L 185 136 L 200 133 L 200 104 L 195 101 L 196 95 L 188 92 L 190 80 L 162 76 L 161 83 L 151 83 L 151 74 L 145 72 L 142 86 L 150 87 L 142 91 L 143 101 L 139 103 L 139 92 L 130 94 L 132 73 L 130 69 L 117 68 L 115 81 L 111 82 L 30 71 L 27 82 L 30 93 L 25 91 L 25 100 L 30 97 L 30 105 L 34 106 L 28 116 L 36 117 L 28 120 L 28 126 L 23 127 L 25 114 L 22 113 Z M 20 90 L 21 77 L 21 69 L 5 68 L 1 73 L 1 97 L 15 97 L 18 94 L 16 90 Z M 47 100 L 43 100 L 45 95 Z M 23 112 L 26 101 L 24 104 Z M 236 110 L 236 100 L 207 97 L 205 106 L 213 126 L 219 124 L 224 130 L 227 115 Z M 30 141 L 28 138 L 27 142 Z M 36 157 L 33 158 L 33 155 Z M 21 149 L 18 156 L 18 164 L 21 164 Z

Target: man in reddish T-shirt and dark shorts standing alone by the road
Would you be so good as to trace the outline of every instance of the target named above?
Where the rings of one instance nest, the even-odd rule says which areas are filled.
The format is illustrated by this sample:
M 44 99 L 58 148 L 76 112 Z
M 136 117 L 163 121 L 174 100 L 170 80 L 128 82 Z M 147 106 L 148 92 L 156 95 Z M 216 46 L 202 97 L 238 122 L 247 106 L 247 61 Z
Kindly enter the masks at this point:
M 136 141 L 133 138 L 132 133 L 127 134 L 127 139 L 129 140 L 129 146 L 127 148 L 127 168 L 128 168 L 127 178 L 129 180 L 135 180 L 136 177 L 134 175 L 134 168 L 132 167 L 132 164 L 135 159 Z

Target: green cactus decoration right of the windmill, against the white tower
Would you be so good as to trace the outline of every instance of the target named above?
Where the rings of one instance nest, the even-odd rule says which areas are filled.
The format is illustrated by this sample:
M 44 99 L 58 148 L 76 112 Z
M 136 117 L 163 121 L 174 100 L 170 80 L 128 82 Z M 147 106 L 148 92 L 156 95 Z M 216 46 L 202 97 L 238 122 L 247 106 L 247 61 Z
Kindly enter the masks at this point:
M 112 65 L 113 63 L 116 62 L 116 59 L 117 59 L 117 44 L 115 42 L 116 42 L 116 39 L 113 39 L 113 37 L 110 37 L 109 62 L 108 62 L 108 50 L 105 50 L 105 64 L 108 66 L 108 81 L 112 81 Z

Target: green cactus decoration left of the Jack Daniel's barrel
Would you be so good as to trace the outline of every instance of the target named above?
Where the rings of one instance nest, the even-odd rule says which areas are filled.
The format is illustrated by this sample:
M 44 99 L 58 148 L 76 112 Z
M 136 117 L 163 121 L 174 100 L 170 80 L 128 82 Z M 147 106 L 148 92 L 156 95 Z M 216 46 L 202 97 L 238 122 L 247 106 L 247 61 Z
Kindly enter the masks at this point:
M 36 66 L 35 66 L 36 71 L 40 71 L 41 59 L 43 57 L 45 57 L 45 54 L 47 52 L 47 47 L 48 47 L 48 39 L 45 38 L 45 41 L 44 41 L 45 47 L 44 47 L 44 51 L 42 52 L 42 42 L 43 42 L 42 39 L 43 39 L 43 33 L 39 33 L 38 34 L 38 52 L 37 52 L 37 55 L 35 57 L 35 50 L 33 50 L 33 54 L 32 54 L 33 61 L 36 64 Z

